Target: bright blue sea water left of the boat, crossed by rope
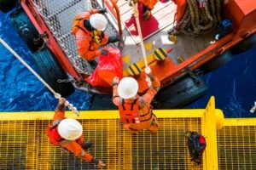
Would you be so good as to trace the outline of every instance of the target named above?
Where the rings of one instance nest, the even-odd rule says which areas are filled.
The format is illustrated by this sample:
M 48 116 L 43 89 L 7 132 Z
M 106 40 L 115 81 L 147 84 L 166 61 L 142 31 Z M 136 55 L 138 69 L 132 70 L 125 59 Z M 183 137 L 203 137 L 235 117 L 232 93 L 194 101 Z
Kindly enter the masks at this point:
M 0 37 L 33 69 L 32 53 L 22 42 L 9 16 L 0 12 Z M 57 100 L 42 82 L 0 44 L 0 111 L 52 111 Z M 90 95 L 76 91 L 68 101 L 79 110 L 88 110 Z

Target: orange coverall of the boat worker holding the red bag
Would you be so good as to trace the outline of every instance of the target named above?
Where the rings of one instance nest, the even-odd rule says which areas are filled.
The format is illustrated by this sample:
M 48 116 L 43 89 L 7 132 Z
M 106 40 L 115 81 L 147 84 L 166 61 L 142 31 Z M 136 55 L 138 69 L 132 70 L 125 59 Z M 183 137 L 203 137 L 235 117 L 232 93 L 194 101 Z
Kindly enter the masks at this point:
M 98 13 L 97 9 L 91 9 L 89 12 L 78 14 L 73 20 L 71 33 L 75 35 L 80 57 L 87 60 L 93 60 L 96 56 L 101 55 L 102 52 L 98 48 L 108 42 L 108 35 L 105 32 L 102 37 L 102 31 L 97 31 L 96 35 L 99 37 L 99 43 L 97 43 L 93 38 L 93 31 L 89 31 L 84 27 L 84 20 L 89 20 L 90 15 L 96 13 Z

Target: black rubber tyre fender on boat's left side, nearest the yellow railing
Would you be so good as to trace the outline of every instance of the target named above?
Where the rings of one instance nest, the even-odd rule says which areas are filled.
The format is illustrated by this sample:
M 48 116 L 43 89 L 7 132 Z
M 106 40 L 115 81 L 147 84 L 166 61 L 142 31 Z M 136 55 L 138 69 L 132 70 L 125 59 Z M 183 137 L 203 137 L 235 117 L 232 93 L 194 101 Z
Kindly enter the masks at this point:
M 71 82 L 57 82 L 58 79 L 67 79 L 67 74 L 63 71 L 61 65 L 48 48 L 37 51 L 33 53 L 32 56 L 38 69 L 38 75 L 42 77 L 55 92 L 65 98 L 73 94 L 74 87 Z

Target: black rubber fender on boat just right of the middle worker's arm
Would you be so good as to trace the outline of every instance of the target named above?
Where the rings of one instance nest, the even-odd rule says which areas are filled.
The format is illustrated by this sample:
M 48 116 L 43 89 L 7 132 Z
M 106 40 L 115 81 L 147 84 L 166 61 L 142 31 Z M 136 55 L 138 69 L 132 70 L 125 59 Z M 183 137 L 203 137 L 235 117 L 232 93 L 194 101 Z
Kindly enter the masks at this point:
M 191 77 L 182 77 L 177 82 L 160 89 L 152 103 L 154 109 L 180 109 L 207 94 L 207 84 L 201 78 L 198 80 L 199 84 Z

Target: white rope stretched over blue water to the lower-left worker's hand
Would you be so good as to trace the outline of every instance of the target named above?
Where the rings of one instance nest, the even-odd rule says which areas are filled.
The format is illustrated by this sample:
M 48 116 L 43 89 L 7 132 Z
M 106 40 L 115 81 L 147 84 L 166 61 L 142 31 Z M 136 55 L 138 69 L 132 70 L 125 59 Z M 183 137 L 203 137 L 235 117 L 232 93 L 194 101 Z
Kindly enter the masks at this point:
M 19 59 L 20 62 L 21 62 L 23 65 L 25 65 L 26 68 L 27 68 L 29 71 L 31 71 L 32 74 L 33 74 L 35 77 L 37 77 L 37 78 L 39 79 L 39 81 L 41 81 L 41 82 L 44 84 L 44 86 L 45 86 L 46 88 L 48 88 L 49 91 L 50 91 L 52 94 L 54 94 L 55 99 L 61 99 L 61 94 L 56 93 L 55 90 L 54 90 L 53 88 L 51 88 L 47 82 L 44 82 L 44 79 L 43 79 L 42 77 L 40 77 L 40 76 L 38 75 L 38 73 L 32 69 L 31 66 L 27 65 L 26 61 L 23 60 L 23 59 L 21 59 L 21 57 L 20 57 L 18 54 L 16 54 L 16 52 L 15 52 L 12 48 L 10 48 L 9 45 L 8 45 L 6 42 L 4 42 L 1 37 L 0 37 L 0 42 L 3 44 L 3 46 L 4 46 L 5 48 L 7 48 L 7 49 L 9 50 L 9 52 L 10 52 L 11 54 L 14 54 L 15 57 L 16 57 L 17 59 Z M 68 109 L 72 110 L 73 113 L 75 113 L 75 114 L 77 114 L 77 116 L 79 116 L 79 111 L 77 110 L 77 108 L 74 107 L 72 104 L 69 104 L 69 102 L 68 102 L 67 100 L 66 100 L 65 105 L 68 107 Z

